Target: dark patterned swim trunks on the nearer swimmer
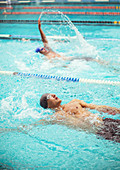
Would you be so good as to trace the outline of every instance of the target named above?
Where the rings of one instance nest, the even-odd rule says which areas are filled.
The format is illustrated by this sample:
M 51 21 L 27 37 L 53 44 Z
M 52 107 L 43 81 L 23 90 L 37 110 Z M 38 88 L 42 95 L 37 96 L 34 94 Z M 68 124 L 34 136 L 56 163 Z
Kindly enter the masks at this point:
M 97 134 L 107 140 L 112 140 L 120 143 L 120 120 L 105 118 L 103 126 L 100 127 Z

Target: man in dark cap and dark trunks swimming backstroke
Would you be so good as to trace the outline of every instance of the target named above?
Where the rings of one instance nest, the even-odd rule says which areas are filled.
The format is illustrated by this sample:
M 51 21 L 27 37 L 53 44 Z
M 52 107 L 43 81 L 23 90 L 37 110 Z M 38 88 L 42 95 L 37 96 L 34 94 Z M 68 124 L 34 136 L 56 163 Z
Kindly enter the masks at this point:
M 88 104 L 83 100 L 73 99 L 67 104 L 61 105 L 62 100 L 55 94 L 45 93 L 40 98 L 40 105 L 44 109 L 52 109 L 55 113 L 50 120 L 40 120 L 39 123 L 57 123 L 72 128 L 79 128 L 92 132 L 108 140 L 120 142 L 120 120 L 102 118 L 93 114 L 89 109 L 108 114 L 120 114 L 120 109 L 105 105 Z

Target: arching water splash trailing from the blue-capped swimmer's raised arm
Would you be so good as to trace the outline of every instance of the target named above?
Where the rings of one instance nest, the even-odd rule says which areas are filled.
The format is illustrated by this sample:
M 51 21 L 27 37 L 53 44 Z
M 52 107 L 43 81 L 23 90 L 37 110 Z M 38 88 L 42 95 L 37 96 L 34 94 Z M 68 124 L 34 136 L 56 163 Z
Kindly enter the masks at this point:
M 64 39 L 62 43 L 52 41 L 47 38 L 50 46 L 57 52 L 60 50 L 64 52 L 66 56 L 77 57 L 95 57 L 99 58 L 97 50 L 94 46 L 90 45 L 78 31 L 71 20 L 62 12 L 58 14 L 50 15 L 49 10 L 42 12 L 39 18 L 41 18 L 42 28 L 46 36 L 61 37 Z M 52 11 L 55 12 L 55 11 Z M 49 20 L 49 25 L 46 22 Z M 54 21 L 57 21 L 57 25 Z M 65 43 L 64 43 L 65 42 Z

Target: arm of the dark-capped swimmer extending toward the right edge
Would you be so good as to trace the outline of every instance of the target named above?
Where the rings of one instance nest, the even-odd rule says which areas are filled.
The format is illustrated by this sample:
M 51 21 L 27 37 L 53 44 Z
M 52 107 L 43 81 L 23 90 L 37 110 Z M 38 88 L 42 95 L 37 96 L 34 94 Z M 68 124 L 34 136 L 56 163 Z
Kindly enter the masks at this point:
M 79 100 L 79 103 L 84 108 L 94 109 L 99 112 L 108 113 L 112 115 L 120 114 L 120 109 L 116 107 L 110 107 L 106 105 L 88 104 L 88 103 L 85 103 L 83 100 Z

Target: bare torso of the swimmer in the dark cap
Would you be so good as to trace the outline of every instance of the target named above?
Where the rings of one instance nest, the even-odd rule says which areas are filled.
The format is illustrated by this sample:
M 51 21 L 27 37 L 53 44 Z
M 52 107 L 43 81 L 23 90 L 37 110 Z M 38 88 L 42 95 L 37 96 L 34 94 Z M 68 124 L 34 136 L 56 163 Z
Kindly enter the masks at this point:
M 98 117 L 96 114 L 93 114 L 86 108 L 83 108 L 77 99 L 62 105 L 62 111 L 58 112 L 58 114 L 59 113 L 64 118 L 67 118 L 67 121 L 69 121 L 71 125 L 73 124 L 89 131 L 93 131 L 94 126 L 98 127 L 103 122 L 101 117 Z

